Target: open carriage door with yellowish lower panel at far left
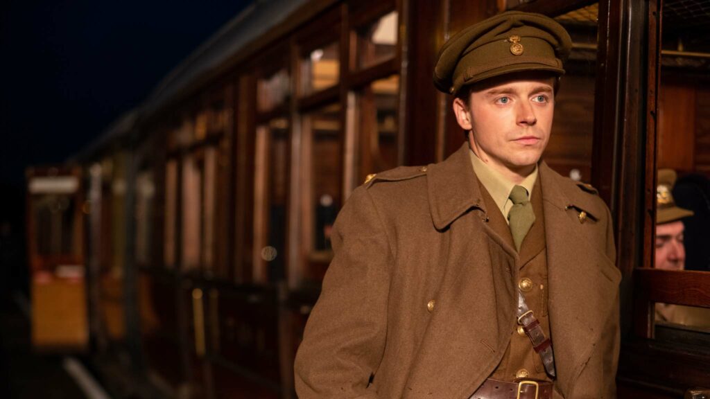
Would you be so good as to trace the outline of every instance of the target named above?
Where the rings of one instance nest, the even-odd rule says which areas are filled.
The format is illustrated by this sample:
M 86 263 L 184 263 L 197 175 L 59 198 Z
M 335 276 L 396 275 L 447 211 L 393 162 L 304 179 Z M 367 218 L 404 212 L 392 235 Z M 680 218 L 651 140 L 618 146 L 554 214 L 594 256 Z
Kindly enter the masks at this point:
M 32 344 L 38 350 L 83 350 L 89 342 L 80 170 L 27 173 L 27 242 Z

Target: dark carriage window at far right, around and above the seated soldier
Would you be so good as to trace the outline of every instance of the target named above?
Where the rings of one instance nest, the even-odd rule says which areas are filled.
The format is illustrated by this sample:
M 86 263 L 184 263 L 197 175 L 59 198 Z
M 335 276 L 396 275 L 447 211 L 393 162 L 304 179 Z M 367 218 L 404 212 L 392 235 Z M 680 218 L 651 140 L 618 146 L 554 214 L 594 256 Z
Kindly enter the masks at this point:
M 657 165 L 677 173 L 673 198 L 678 207 L 694 212 L 682 219 L 684 269 L 708 271 L 710 15 L 685 1 L 664 1 L 662 7 Z M 661 170 L 659 180 L 660 175 Z

